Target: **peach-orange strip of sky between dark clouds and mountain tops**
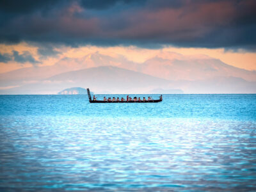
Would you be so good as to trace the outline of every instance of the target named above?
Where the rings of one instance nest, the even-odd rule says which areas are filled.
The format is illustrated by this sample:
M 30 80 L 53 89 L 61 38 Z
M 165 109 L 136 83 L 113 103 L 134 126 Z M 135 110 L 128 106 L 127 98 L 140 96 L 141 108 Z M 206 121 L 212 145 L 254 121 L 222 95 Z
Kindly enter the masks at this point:
M 234 51 L 225 51 L 225 49 L 207 49 L 207 48 L 182 48 L 182 47 L 164 47 L 161 49 L 145 49 L 136 46 L 129 47 L 97 47 L 97 46 L 84 46 L 84 47 L 58 47 L 57 51 L 60 52 L 58 56 L 52 56 L 47 58 L 40 58 L 37 54 L 38 47 L 29 45 L 26 43 L 21 43 L 17 45 L 0 45 L 1 54 L 11 54 L 12 51 L 18 51 L 20 53 L 28 51 L 35 58 L 35 60 L 40 61 L 40 64 L 36 66 L 45 66 L 45 65 L 54 65 L 61 58 L 82 58 L 87 54 L 92 52 L 99 51 L 101 54 L 109 56 L 122 55 L 127 58 L 127 60 L 135 61 L 138 63 L 143 63 L 143 61 L 148 60 L 159 54 L 168 54 L 168 52 L 175 52 L 177 54 L 182 54 L 185 56 L 195 56 L 195 55 L 206 55 L 211 58 L 216 58 L 228 65 L 234 67 L 244 68 L 246 70 L 256 70 L 256 53 L 246 52 L 239 50 Z M 15 61 L 9 61 L 8 63 L 0 63 L 0 72 L 8 72 L 15 70 L 17 68 L 31 67 L 31 63 L 17 63 Z

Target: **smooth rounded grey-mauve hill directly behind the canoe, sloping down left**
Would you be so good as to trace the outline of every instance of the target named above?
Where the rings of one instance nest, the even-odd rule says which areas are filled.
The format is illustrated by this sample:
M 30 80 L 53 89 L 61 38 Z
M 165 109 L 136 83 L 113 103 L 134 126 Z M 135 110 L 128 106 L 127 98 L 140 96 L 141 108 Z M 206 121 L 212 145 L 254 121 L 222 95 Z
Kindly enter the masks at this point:
M 43 81 L 25 84 L 0 94 L 56 94 L 67 87 L 86 87 L 93 92 L 145 93 L 170 81 L 119 67 L 93 67 L 65 72 Z

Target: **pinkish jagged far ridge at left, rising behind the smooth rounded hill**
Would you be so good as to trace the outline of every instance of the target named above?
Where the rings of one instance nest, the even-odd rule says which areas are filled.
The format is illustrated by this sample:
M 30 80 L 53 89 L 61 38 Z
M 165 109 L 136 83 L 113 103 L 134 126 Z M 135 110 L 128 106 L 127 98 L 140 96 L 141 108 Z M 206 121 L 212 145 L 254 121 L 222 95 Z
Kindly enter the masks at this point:
M 62 58 L 51 66 L 26 67 L 0 74 L 0 87 L 31 83 L 32 81 L 35 82 L 57 74 L 62 74 L 63 72 L 85 68 L 109 65 L 118 67 L 121 63 L 124 63 L 124 65 L 133 65 L 132 61 L 126 60 L 123 56 L 113 58 L 99 54 L 99 52 L 88 54 L 83 58 Z

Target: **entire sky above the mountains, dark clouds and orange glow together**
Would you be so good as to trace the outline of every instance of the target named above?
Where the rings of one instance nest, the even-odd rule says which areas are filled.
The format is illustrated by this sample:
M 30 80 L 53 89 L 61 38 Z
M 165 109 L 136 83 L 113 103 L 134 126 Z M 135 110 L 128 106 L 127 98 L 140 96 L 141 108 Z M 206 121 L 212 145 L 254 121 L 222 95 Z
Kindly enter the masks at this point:
M 0 73 L 91 52 L 207 55 L 256 70 L 255 0 L 0 1 Z

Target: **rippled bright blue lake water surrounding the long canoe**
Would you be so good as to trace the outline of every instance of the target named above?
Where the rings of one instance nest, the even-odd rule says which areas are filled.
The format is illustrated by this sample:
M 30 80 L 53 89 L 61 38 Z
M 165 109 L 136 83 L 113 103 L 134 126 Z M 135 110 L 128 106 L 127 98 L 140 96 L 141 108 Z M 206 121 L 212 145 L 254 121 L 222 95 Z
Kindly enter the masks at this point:
M 255 129 L 255 94 L 1 95 L 0 191 L 255 191 Z

